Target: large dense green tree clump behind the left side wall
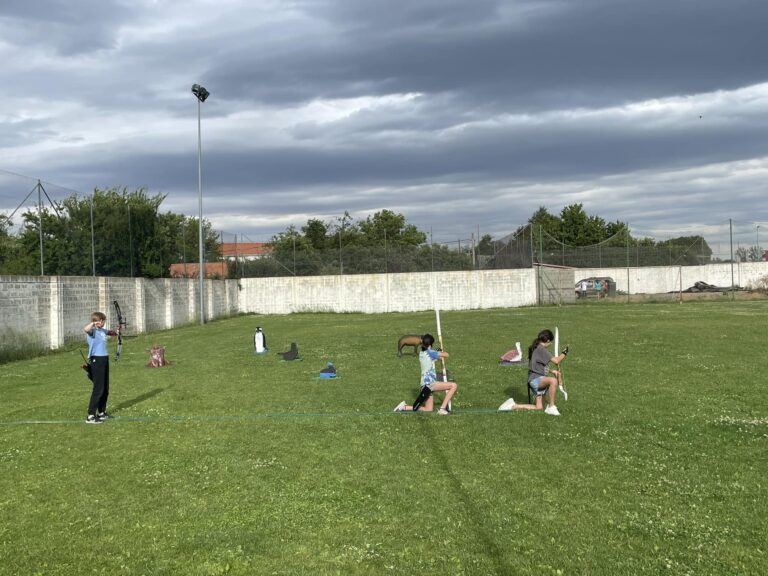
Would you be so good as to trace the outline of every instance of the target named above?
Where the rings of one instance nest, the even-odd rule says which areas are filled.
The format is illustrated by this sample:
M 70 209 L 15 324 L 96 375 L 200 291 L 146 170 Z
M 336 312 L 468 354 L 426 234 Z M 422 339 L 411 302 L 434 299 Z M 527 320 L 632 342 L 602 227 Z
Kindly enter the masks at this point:
M 168 266 L 198 253 L 197 220 L 161 214 L 164 194 L 146 189 L 95 189 L 22 215 L 19 250 L 4 269 L 18 274 L 40 270 L 40 222 L 44 272 L 52 275 L 145 276 L 167 274 Z M 203 222 L 206 261 L 218 260 L 218 237 Z M 181 241 L 180 241 L 181 239 Z M 184 246 L 184 249 L 181 249 Z M 197 256 L 187 258 L 196 262 Z

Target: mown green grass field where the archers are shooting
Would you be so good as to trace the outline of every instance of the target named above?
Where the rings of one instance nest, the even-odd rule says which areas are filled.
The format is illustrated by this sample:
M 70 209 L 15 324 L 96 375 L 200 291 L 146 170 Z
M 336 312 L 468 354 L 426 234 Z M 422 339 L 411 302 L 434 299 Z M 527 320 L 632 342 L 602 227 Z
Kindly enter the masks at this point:
M 397 339 L 432 313 L 126 339 L 100 426 L 77 351 L 0 366 L 0 574 L 766 573 L 765 301 L 441 317 L 447 417 L 391 411 L 418 380 Z M 562 416 L 499 413 L 526 396 L 499 356 L 556 325 Z

